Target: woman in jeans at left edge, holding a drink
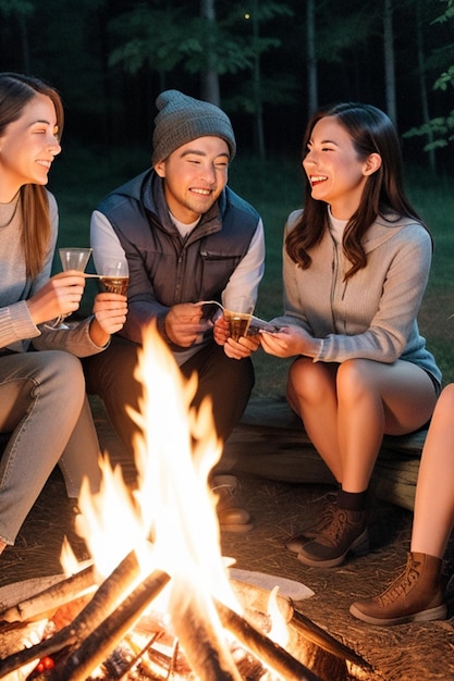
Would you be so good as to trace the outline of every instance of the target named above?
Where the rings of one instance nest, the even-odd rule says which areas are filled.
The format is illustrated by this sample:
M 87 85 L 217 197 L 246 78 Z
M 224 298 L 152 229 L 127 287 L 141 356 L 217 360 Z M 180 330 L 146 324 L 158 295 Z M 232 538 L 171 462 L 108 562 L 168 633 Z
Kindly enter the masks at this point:
M 99 294 L 93 317 L 51 323 L 78 309 L 85 285 L 75 270 L 50 276 L 58 210 L 45 185 L 62 129 L 52 87 L 0 73 L 0 553 L 57 463 L 70 497 L 84 476 L 97 490 L 99 444 L 77 356 L 101 351 L 125 321 L 125 297 Z

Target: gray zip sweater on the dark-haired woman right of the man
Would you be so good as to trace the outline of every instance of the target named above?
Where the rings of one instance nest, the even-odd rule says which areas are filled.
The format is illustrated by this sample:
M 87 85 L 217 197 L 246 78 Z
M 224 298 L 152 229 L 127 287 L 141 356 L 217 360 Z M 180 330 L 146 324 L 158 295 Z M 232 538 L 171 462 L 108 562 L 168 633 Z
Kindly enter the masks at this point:
M 300 212 L 291 213 L 285 235 Z M 284 247 L 284 315 L 277 321 L 303 326 L 320 340 L 314 361 L 367 358 L 392 363 L 403 359 L 441 382 L 417 324 L 431 265 L 429 233 L 415 220 L 379 218 L 367 232 L 364 247 L 367 267 L 346 282 L 351 263 L 330 231 L 310 250 L 312 262 L 307 270 L 295 264 Z

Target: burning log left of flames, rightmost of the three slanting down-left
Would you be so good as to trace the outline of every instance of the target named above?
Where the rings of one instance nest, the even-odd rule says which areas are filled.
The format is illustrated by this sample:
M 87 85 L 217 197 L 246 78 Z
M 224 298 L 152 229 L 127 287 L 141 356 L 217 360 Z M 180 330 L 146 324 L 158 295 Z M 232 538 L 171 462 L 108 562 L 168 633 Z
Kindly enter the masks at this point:
M 148 575 L 64 664 L 54 667 L 48 678 L 51 681 L 85 681 L 134 627 L 169 580 L 169 574 L 160 570 Z

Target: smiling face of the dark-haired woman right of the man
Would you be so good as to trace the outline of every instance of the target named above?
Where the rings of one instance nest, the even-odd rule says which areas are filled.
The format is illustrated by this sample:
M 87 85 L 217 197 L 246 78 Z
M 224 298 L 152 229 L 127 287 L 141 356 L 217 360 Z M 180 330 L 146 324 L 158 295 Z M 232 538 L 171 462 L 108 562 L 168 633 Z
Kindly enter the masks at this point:
M 311 196 L 329 203 L 334 218 L 348 220 L 359 206 L 369 161 L 358 158 L 352 137 L 335 116 L 326 116 L 314 126 L 303 168 Z

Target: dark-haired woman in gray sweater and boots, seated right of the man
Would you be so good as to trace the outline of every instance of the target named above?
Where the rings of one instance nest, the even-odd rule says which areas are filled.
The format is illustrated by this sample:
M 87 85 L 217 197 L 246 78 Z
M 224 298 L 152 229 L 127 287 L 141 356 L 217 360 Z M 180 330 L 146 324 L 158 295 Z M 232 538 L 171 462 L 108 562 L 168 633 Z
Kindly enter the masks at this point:
M 383 434 L 425 425 L 441 373 L 420 336 L 432 239 L 405 196 L 390 119 L 342 103 L 309 122 L 304 210 L 285 227 L 284 317 L 262 347 L 293 357 L 287 399 L 340 485 L 318 522 L 287 542 L 309 566 L 368 546 L 367 497 Z

